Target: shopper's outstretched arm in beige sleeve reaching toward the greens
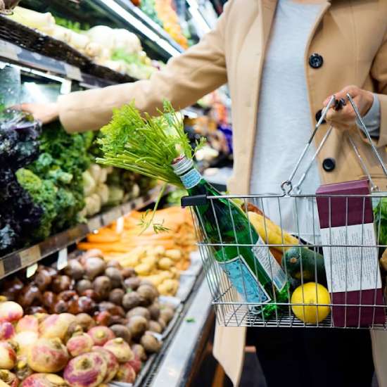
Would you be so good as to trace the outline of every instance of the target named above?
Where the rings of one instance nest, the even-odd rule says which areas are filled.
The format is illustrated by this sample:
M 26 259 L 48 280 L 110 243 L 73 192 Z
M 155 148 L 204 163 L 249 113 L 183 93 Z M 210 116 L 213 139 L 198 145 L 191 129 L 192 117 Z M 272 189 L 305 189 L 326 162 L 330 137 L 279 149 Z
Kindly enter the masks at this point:
M 156 114 L 163 100 L 176 109 L 195 103 L 205 94 L 227 82 L 224 57 L 224 31 L 229 6 L 215 30 L 181 55 L 170 59 L 165 68 L 150 80 L 118 84 L 103 89 L 77 91 L 60 96 L 50 105 L 23 105 L 35 118 L 49 122 L 59 116 L 68 132 L 97 130 L 109 122 L 114 108 L 134 101 L 137 108 Z

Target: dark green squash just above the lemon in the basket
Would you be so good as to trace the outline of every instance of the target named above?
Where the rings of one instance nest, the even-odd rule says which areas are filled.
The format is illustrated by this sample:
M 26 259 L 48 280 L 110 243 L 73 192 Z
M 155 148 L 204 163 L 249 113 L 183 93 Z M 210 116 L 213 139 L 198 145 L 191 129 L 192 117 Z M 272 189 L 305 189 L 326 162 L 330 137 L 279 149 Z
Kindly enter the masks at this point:
M 302 279 L 304 284 L 305 282 L 317 281 L 326 286 L 324 257 L 317 251 L 301 246 L 289 248 L 282 258 L 282 267 L 284 270 L 286 268 L 291 283 L 301 283 Z

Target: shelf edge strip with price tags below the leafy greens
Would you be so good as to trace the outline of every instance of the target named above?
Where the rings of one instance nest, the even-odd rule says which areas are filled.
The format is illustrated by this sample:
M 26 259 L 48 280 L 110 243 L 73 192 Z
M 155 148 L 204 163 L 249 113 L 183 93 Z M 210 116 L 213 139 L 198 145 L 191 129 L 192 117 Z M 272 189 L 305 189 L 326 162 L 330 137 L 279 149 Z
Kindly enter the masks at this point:
M 118 220 L 119 217 L 127 215 L 132 210 L 140 210 L 141 208 L 146 207 L 156 201 L 160 191 L 161 186 L 157 186 L 145 196 L 141 196 L 133 201 L 118 205 L 117 207 L 91 217 L 87 223 L 78 224 L 77 226 L 72 227 L 72 229 L 50 236 L 48 239 L 29 248 L 24 248 L 4 255 L 4 257 L 0 258 L 0 279 L 3 279 L 14 272 L 18 272 L 20 269 L 30 267 L 53 253 L 66 249 L 72 243 L 84 238 L 90 232 L 103 226 L 107 226 L 111 222 Z M 170 191 L 172 191 L 172 188 L 165 189 L 165 195 Z

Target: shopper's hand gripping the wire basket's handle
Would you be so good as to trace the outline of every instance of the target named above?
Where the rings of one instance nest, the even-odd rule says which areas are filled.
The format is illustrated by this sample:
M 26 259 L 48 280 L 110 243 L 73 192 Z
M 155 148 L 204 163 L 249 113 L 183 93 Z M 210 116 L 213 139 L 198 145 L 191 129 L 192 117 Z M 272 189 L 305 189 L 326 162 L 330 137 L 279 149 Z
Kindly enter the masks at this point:
M 326 121 L 338 129 L 349 129 L 356 123 L 356 114 L 347 99 L 347 93 L 352 96 L 362 117 L 368 113 L 368 110 L 374 103 L 374 94 L 371 91 L 360 89 L 357 86 L 347 86 L 341 91 L 338 91 L 334 94 L 335 98 L 338 100 L 344 99 L 346 104 L 341 110 L 335 110 L 334 106 L 332 106 L 326 115 Z M 330 99 L 331 96 L 324 101 L 324 106 L 328 105 Z

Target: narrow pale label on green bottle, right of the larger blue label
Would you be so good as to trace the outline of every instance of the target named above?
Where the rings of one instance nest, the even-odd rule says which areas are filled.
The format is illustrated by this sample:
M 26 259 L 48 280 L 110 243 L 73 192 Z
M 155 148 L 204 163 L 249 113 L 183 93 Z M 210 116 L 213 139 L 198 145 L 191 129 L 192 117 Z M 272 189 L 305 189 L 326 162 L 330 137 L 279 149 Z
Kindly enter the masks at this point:
M 267 246 L 260 246 L 263 244 L 262 238 L 259 237 L 256 246 L 253 247 L 253 254 L 277 290 L 281 291 L 286 285 L 286 274 L 272 253 L 270 253 L 269 248 Z

